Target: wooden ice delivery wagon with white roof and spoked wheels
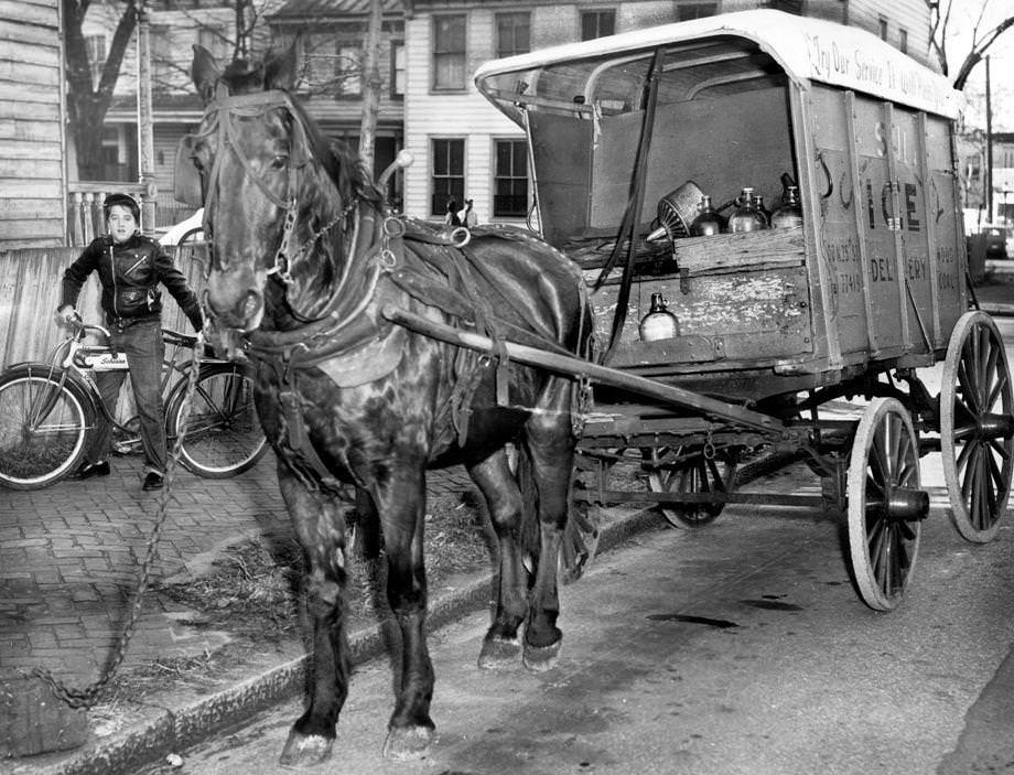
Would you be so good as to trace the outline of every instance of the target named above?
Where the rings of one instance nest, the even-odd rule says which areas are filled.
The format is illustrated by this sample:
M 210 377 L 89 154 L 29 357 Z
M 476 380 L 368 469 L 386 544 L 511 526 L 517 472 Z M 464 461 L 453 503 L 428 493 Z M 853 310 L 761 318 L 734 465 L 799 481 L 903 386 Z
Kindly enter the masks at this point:
M 861 30 L 760 10 L 492 62 L 475 83 L 525 129 L 537 227 L 591 289 L 595 364 L 532 362 L 596 384 L 587 499 L 654 502 L 678 526 L 726 503 L 838 509 L 876 610 L 916 562 L 923 455 L 942 455 L 960 534 L 995 537 L 1012 388 L 970 309 L 945 78 Z M 792 217 L 759 228 L 749 211 L 790 187 Z M 704 229 L 703 195 L 735 228 Z M 737 492 L 757 450 L 805 460 L 821 495 Z M 610 476 L 632 460 L 647 489 Z

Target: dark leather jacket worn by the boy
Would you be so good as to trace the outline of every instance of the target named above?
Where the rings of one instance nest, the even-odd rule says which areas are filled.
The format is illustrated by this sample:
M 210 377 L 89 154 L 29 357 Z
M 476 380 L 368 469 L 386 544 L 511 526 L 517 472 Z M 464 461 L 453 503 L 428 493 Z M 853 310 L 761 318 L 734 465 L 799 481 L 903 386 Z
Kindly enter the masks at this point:
M 197 297 L 158 243 L 139 234 L 120 244 L 108 236 L 93 240 L 64 272 L 61 306 L 77 304 L 82 286 L 95 270 L 98 270 L 103 284 L 101 303 L 109 325 L 122 327 L 142 320 L 160 319 L 161 282 L 190 317 L 194 329 L 201 330 Z

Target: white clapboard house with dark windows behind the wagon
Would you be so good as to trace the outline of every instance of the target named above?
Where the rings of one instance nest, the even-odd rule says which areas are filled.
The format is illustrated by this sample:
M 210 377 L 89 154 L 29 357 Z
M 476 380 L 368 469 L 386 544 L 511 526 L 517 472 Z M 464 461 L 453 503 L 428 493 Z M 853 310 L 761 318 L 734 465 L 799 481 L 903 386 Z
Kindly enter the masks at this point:
M 529 220 L 527 140 L 476 92 L 471 76 L 483 62 L 758 7 L 861 26 L 929 64 L 923 0 L 406 0 L 404 144 L 416 163 L 404 175 L 404 211 L 442 218 L 449 200 L 473 200 L 481 222 Z

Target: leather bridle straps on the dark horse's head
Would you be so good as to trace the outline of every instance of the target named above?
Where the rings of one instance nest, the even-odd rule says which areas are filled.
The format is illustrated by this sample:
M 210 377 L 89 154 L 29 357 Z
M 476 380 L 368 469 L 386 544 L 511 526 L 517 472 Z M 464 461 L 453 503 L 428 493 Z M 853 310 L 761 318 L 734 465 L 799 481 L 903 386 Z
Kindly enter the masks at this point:
M 358 233 L 359 227 L 359 202 L 357 197 L 352 197 L 341 213 L 324 224 L 321 228 L 316 229 L 313 235 L 311 235 L 310 239 L 304 243 L 295 251 L 294 255 L 290 255 L 292 236 L 295 230 L 295 224 L 299 217 L 299 198 L 296 196 L 299 192 L 299 174 L 302 168 L 304 168 L 310 161 L 310 159 L 305 158 L 293 161 L 291 150 L 295 147 L 296 143 L 291 143 L 290 155 L 287 160 L 287 193 L 284 197 L 280 197 L 271 191 L 271 189 L 265 182 L 263 177 L 258 174 L 257 170 L 255 170 L 254 165 L 250 163 L 250 160 L 242 152 L 240 144 L 237 142 L 237 129 L 233 122 L 234 116 L 262 116 L 268 111 L 274 110 L 277 108 L 283 108 L 289 112 L 289 116 L 292 119 L 293 138 L 295 138 L 299 133 L 305 136 L 305 129 L 303 128 L 302 120 L 300 119 L 299 112 L 295 109 L 292 97 L 287 92 L 281 89 L 271 89 L 268 92 L 258 92 L 255 94 L 231 95 L 225 85 L 219 84 L 217 87 L 215 100 L 209 103 L 206 107 L 206 112 L 214 112 L 214 119 L 206 130 L 195 134 L 194 137 L 209 138 L 212 134 L 217 134 L 215 162 L 212 165 L 212 170 L 205 182 L 206 200 L 203 227 L 206 235 L 209 235 L 209 237 L 214 239 L 214 235 L 209 228 L 209 213 L 218 203 L 218 192 L 220 190 L 220 186 L 218 185 L 218 179 L 222 175 L 223 159 L 225 158 L 228 149 L 233 150 L 233 153 L 239 160 L 240 164 L 242 164 L 247 176 L 257 184 L 257 187 L 260 189 L 261 193 L 268 198 L 268 201 L 271 202 L 276 207 L 284 211 L 282 235 L 279 239 L 278 248 L 274 251 L 272 263 L 267 269 L 267 275 L 268 277 L 276 277 L 278 281 L 285 287 L 288 301 L 288 289 L 292 284 L 292 268 L 299 261 L 303 260 L 314 249 L 320 238 L 332 228 L 342 224 L 343 230 L 346 230 L 345 224 L 350 215 L 355 215 L 355 223 L 353 227 L 353 240 L 355 243 L 355 235 Z M 346 272 L 348 271 L 348 261 L 345 262 Z M 215 250 L 212 250 L 212 259 L 208 262 L 208 272 L 211 272 L 213 266 L 220 268 L 217 252 Z M 343 283 L 339 282 L 338 288 L 341 288 L 342 284 Z M 293 313 L 293 316 L 301 323 L 309 323 L 313 322 L 314 320 L 319 320 L 300 315 L 291 303 L 289 306 L 290 311 Z

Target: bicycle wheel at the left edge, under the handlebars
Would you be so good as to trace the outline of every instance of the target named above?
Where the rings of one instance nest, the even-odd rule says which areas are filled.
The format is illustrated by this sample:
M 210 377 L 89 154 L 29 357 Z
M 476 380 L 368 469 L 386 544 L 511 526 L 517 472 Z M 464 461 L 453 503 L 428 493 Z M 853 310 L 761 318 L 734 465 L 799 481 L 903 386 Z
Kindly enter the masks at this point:
M 21 367 L 0 376 L 0 484 L 39 489 L 74 471 L 94 424 L 88 399 L 50 367 Z

